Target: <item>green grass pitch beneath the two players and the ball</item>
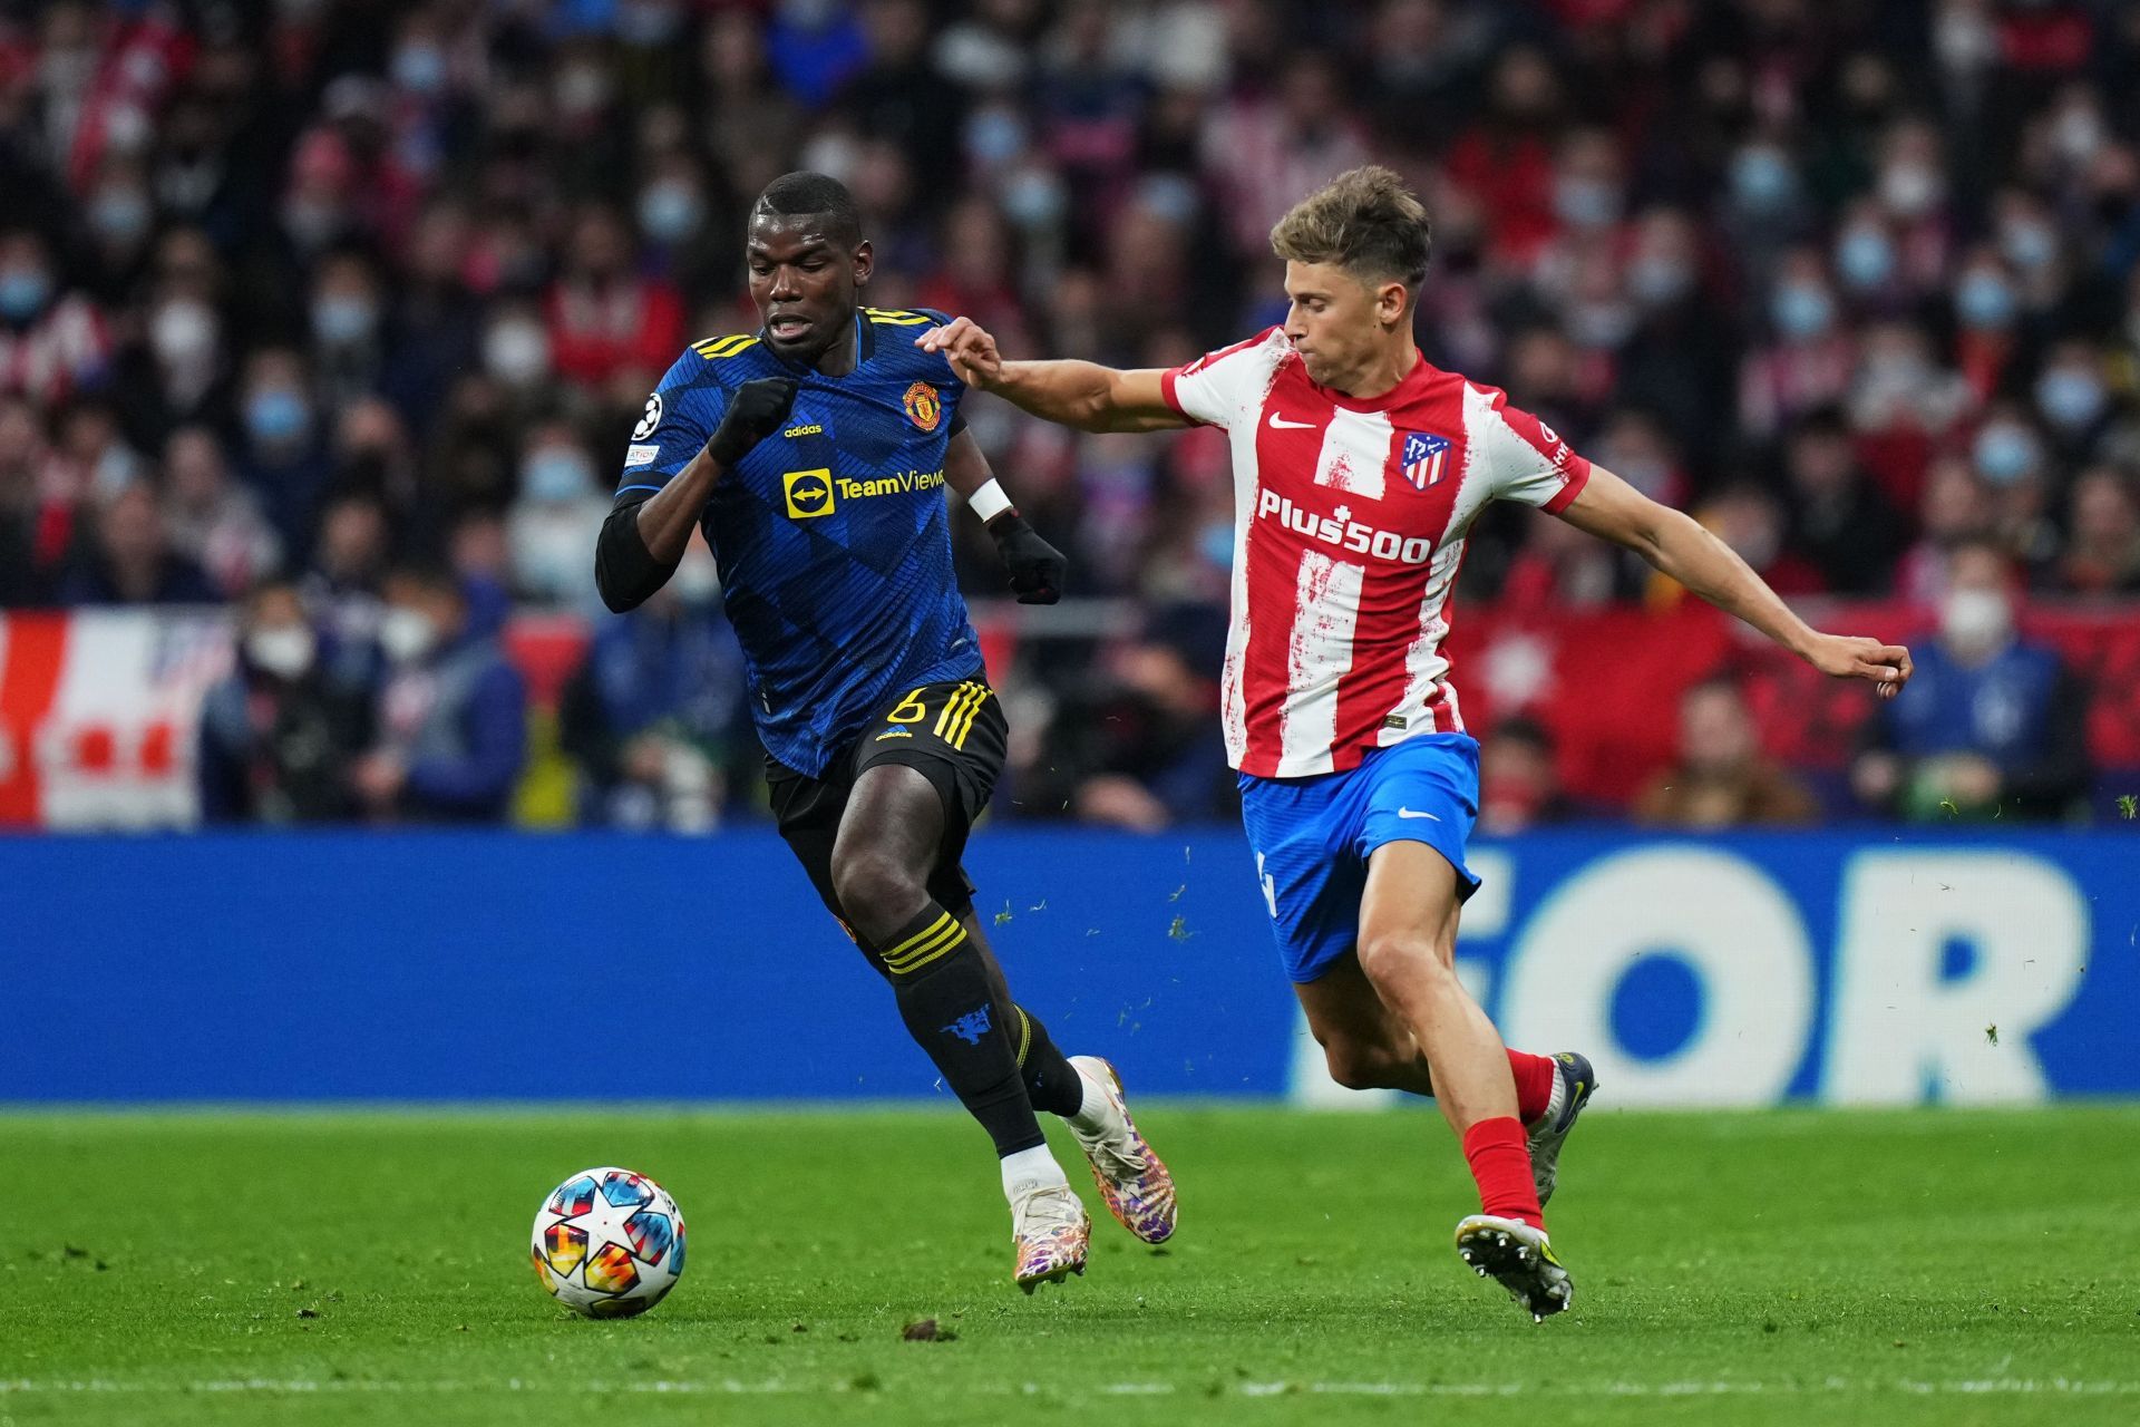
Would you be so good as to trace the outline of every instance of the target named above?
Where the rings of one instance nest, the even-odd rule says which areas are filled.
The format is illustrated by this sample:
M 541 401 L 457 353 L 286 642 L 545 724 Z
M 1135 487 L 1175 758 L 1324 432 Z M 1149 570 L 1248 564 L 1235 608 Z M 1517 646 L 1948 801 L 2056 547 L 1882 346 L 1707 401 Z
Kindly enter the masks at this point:
M 1102 1219 L 1025 1299 L 952 1108 L 0 1115 L 0 1427 L 2140 1421 L 2134 1106 L 1601 1100 L 1543 1326 L 1451 1252 L 1472 1196 L 1430 1110 L 1141 1119 L 1181 1232 Z M 541 1196 L 603 1162 L 691 1224 L 627 1322 L 526 1267 Z

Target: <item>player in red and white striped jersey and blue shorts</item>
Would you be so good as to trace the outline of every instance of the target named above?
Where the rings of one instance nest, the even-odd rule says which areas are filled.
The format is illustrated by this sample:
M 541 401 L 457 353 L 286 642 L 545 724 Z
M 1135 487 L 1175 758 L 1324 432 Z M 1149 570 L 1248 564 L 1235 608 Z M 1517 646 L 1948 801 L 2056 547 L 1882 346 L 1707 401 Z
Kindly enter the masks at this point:
M 1545 1234 L 1560 1140 L 1596 1078 L 1507 1050 L 1455 976 L 1479 745 L 1449 659 L 1449 593 L 1489 501 L 1639 552 L 1710 603 L 1883 697 L 1909 653 L 1810 629 L 1723 541 L 1569 449 L 1502 392 L 1412 342 L 1427 216 L 1389 169 L 1352 169 L 1271 231 L 1290 308 L 1175 370 L 1004 362 L 952 321 L 920 338 L 974 387 L 1083 430 L 1218 426 L 1233 445 L 1226 751 L 1280 956 L 1346 1085 L 1432 1093 L 1479 1181 L 1457 1249 L 1534 1316 L 1573 1286 Z

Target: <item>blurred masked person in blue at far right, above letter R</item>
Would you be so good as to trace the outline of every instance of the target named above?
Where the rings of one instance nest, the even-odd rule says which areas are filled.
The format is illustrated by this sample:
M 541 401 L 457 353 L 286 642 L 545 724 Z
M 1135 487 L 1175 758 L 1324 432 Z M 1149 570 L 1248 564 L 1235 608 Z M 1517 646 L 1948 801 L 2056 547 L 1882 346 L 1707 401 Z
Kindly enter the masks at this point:
M 1911 822 L 2061 817 L 2086 792 L 2080 680 L 2016 631 L 2007 554 L 1971 541 L 1950 556 L 1939 633 L 1866 727 L 1851 787 Z

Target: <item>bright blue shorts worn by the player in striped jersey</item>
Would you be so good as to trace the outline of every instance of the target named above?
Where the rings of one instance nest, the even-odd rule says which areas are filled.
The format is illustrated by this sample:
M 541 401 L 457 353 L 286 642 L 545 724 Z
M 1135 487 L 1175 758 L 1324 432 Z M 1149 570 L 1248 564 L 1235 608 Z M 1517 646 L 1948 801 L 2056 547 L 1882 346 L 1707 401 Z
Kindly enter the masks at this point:
M 1479 819 L 1479 740 L 1421 734 L 1376 749 L 1357 768 L 1308 779 L 1241 774 L 1241 824 L 1271 907 L 1278 958 L 1312 982 L 1359 941 L 1367 856 L 1425 843 L 1457 869 L 1457 901 L 1479 890 L 1464 843 Z

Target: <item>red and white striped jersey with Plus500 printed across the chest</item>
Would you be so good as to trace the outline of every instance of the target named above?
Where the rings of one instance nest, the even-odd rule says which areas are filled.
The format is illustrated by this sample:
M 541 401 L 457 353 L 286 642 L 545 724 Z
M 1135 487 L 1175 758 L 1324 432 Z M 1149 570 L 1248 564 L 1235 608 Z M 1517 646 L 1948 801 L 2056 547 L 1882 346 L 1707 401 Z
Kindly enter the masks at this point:
M 1590 462 L 1507 394 L 1423 357 L 1374 400 L 1318 387 L 1280 327 L 1162 389 L 1233 443 L 1228 762 L 1293 779 L 1462 732 L 1440 644 L 1464 533 L 1494 498 L 1564 509 Z

